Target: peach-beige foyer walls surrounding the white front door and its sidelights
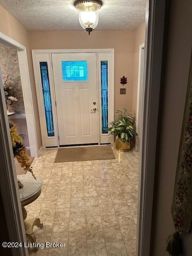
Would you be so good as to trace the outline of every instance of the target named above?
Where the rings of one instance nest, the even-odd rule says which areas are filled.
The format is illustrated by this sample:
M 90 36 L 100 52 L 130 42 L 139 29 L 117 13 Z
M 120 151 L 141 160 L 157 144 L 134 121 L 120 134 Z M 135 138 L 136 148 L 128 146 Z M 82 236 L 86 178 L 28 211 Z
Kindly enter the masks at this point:
M 114 110 L 127 108 L 128 112 L 136 110 L 138 49 L 144 42 L 144 23 L 136 30 L 94 31 L 90 36 L 84 31 L 27 31 L 13 16 L 0 6 L 0 32 L 10 36 L 27 48 L 30 80 L 38 131 L 38 145 L 41 146 L 38 106 L 34 84 L 32 49 L 115 49 L 115 84 Z M 128 83 L 126 95 L 120 95 L 120 78 L 126 76 Z M 133 102 L 134 99 L 134 102 Z

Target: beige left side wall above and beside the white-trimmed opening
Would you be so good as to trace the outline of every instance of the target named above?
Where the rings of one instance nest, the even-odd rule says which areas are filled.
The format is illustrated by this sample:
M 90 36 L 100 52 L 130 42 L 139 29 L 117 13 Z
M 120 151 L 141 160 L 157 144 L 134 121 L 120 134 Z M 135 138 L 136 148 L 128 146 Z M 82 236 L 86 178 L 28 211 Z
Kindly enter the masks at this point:
M 26 46 L 27 56 L 28 56 L 28 65 L 30 72 L 30 82 L 32 89 L 32 98 L 34 102 L 34 113 L 36 118 L 36 130 L 38 135 L 38 148 L 42 146 L 41 133 L 40 133 L 40 123 L 39 123 L 39 115 L 38 115 L 38 107 L 36 100 L 36 90 L 34 84 L 34 75 L 32 68 L 32 58 L 29 50 L 29 41 L 28 41 L 28 31 L 20 22 L 18 22 L 10 13 L 8 13 L 1 5 L 0 5 L 0 32 L 6 34 L 10 38 L 16 40 L 20 44 Z

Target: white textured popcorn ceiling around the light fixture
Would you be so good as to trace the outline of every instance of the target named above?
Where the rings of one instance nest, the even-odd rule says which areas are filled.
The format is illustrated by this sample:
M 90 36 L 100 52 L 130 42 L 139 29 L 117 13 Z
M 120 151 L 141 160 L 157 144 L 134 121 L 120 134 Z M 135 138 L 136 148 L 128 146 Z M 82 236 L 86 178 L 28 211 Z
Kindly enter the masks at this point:
M 0 0 L 29 30 L 82 30 L 72 0 Z M 96 30 L 131 30 L 145 20 L 146 0 L 105 0 Z

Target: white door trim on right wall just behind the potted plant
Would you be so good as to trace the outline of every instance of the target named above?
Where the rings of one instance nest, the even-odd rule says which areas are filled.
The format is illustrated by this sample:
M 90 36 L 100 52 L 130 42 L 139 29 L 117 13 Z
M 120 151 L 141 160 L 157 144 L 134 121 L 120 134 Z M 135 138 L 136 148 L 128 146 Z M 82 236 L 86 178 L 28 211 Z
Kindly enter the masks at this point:
M 142 93 L 144 93 L 145 88 L 143 88 L 144 83 L 142 83 L 143 78 L 143 70 L 144 67 L 141 64 L 142 61 L 142 50 L 144 50 L 145 43 L 140 44 L 139 46 L 139 70 L 138 70 L 138 89 L 137 89 L 137 113 L 136 113 L 136 132 L 138 136 L 136 137 L 136 144 L 135 148 L 138 151 L 139 150 L 139 137 L 140 137 L 140 127 L 141 127 L 141 105 L 142 105 Z

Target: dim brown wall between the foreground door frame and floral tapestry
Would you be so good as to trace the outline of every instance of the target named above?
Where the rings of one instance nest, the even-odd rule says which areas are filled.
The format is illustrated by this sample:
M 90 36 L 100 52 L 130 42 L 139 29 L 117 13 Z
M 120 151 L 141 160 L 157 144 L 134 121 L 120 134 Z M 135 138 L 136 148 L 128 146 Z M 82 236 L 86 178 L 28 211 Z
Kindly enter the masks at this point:
M 167 256 L 165 236 L 174 232 L 171 204 L 192 50 L 192 1 L 172 0 L 166 44 L 166 76 L 159 120 L 158 164 L 151 256 Z M 192 255 L 192 234 L 182 234 L 184 256 Z

